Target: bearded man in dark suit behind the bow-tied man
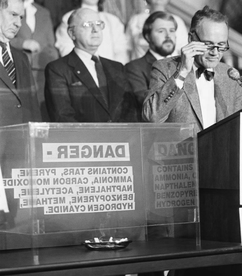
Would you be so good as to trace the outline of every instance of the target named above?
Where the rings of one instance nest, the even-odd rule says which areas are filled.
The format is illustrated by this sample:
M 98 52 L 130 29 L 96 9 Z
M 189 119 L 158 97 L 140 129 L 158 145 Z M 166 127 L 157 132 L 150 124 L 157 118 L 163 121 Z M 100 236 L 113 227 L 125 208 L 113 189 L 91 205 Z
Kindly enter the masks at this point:
M 176 29 L 177 23 L 174 17 L 164 11 L 154 12 L 145 21 L 142 33 L 149 43 L 149 50 L 144 56 L 125 66 L 129 84 L 141 105 L 145 91 L 149 89 L 152 64 L 174 53 Z

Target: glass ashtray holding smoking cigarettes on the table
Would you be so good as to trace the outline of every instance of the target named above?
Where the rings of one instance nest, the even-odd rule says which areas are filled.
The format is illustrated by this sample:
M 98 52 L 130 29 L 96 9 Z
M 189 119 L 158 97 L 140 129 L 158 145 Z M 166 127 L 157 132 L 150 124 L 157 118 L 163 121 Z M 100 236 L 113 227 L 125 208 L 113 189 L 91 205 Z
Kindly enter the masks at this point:
M 130 239 L 94 239 L 83 242 L 91 250 L 114 250 L 126 248 L 132 240 Z

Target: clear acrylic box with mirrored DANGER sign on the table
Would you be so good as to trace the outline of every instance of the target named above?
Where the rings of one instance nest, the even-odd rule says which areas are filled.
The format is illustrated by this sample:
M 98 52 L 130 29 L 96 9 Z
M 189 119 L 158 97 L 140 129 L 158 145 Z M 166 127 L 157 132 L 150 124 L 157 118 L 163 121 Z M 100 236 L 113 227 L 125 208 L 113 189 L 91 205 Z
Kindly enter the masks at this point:
M 188 229 L 182 227 L 189 232 L 184 236 L 198 236 L 192 124 L 29 123 L 3 127 L 1 136 L 3 183 L 8 207 L 15 210 L 12 216 L 10 210 L 4 213 L 1 249 L 81 244 L 110 236 L 149 240 L 162 225 L 170 231 L 167 236 L 176 236 L 174 224 L 188 224 Z M 162 145 L 176 148 L 177 143 L 182 160 L 160 156 Z M 168 164 L 176 170 L 179 166 L 186 178 L 174 184 L 178 188 L 171 184 L 178 182 L 173 175 L 158 173 Z M 174 187 L 162 188 L 168 185 Z M 168 206 L 168 200 L 163 206 L 168 193 L 175 193 L 180 206 L 173 201 Z

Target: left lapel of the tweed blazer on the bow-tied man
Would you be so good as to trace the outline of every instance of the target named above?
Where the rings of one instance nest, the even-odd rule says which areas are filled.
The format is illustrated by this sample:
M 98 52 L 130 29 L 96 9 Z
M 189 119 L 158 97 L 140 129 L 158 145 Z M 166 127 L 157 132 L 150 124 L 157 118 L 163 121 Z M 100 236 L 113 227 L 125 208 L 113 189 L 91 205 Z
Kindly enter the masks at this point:
M 180 69 L 180 67 L 181 67 L 181 64 L 178 65 L 178 70 Z M 197 89 L 196 79 L 195 79 L 195 74 L 193 69 L 191 69 L 191 72 L 188 73 L 184 81 L 184 88 L 185 88 L 185 93 L 188 97 L 188 100 L 191 104 L 191 107 L 193 108 L 193 111 L 196 114 L 201 124 L 201 127 L 203 128 L 201 105 L 199 101 L 198 89 Z

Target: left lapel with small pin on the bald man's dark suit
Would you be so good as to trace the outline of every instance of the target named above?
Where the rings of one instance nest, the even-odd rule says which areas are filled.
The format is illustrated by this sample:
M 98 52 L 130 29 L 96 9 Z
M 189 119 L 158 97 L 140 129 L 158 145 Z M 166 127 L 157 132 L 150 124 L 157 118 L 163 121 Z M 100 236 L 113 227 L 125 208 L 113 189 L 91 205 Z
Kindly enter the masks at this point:
M 77 56 L 74 50 L 69 55 L 69 66 L 73 67 L 73 73 L 77 76 L 80 81 L 87 86 L 88 91 L 96 98 L 96 100 L 103 106 L 103 108 L 108 112 L 106 104 L 101 97 L 100 90 L 96 85 L 92 75 L 88 71 L 87 67 L 83 61 Z

